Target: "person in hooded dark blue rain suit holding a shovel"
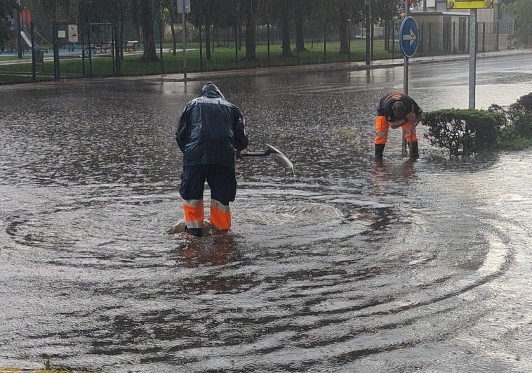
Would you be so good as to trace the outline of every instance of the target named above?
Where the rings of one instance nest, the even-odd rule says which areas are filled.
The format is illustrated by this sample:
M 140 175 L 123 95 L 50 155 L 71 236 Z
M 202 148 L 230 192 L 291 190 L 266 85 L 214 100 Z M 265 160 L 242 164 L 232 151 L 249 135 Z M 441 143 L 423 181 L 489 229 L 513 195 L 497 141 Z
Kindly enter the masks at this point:
M 242 113 L 209 81 L 201 96 L 183 110 L 175 140 L 183 153 L 179 193 L 184 199 L 185 230 L 201 236 L 205 181 L 211 188 L 211 226 L 229 230 L 229 202 L 237 195 L 234 163 L 248 145 Z

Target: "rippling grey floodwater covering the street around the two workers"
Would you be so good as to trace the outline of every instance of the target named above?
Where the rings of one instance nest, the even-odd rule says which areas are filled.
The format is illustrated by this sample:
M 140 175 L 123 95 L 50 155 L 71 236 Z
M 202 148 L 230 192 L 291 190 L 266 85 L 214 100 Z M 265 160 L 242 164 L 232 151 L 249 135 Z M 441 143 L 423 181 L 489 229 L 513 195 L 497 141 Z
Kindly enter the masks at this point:
M 477 107 L 532 91 L 529 61 L 478 60 Z M 411 64 L 409 93 L 465 108 L 467 69 Z M 532 150 L 449 159 L 421 138 L 409 162 L 392 131 L 375 164 L 375 105 L 402 74 L 215 79 L 248 150 L 295 175 L 240 161 L 233 228 L 201 239 L 165 231 L 175 125 L 204 81 L 1 87 L 0 366 L 530 371 Z

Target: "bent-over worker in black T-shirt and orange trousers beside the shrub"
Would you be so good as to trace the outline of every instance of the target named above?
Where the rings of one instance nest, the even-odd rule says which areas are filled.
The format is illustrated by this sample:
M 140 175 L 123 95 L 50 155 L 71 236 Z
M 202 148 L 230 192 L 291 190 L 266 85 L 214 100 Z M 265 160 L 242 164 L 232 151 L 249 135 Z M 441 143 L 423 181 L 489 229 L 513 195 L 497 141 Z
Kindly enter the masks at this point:
M 420 122 L 422 113 L 423 110 L 413 98 L 404 93 L 390 93 L 381 98 L 375 124 L 375 159 L 383 159 L 389 127 L 403 129 L 406 143 L 411 149 L 411 157 L 418 158 L 418 136 L 415 135 L 415 126 Z

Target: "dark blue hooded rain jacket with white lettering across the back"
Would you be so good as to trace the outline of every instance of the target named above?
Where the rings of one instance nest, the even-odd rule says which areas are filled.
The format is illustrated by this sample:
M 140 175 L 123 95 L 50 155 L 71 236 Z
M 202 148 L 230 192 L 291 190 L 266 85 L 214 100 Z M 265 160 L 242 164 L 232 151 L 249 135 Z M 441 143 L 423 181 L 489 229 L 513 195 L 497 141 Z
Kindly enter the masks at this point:
M 225 100 L 211 82 L 183 110 L 175 140 L 183 152 L 185 166 L 218 164 L 234 168 L 237 150 L 248 146 L 239 108 Z

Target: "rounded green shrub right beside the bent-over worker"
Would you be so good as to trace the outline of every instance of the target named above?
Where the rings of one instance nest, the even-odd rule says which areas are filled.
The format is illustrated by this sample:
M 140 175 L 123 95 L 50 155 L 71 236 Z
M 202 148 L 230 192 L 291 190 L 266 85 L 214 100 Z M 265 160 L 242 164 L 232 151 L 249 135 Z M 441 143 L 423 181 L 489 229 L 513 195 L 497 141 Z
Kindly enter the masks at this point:
M 505 114 L 496 108 L 445 109 L 423 115 L 423 125 L 429 127 L 430 143 L 448 149 L 450 155 L 495 149 L 505 123 Z

